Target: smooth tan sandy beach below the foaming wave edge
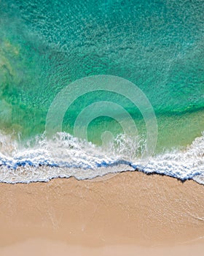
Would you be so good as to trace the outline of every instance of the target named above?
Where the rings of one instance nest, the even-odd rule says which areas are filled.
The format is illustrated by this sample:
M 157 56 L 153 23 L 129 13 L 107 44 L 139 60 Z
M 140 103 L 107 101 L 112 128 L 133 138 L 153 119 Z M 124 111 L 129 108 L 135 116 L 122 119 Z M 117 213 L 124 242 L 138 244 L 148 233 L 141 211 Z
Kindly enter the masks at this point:
M 138 172 L 0 184 L 0 255 L 203 255 L 203 195 Z

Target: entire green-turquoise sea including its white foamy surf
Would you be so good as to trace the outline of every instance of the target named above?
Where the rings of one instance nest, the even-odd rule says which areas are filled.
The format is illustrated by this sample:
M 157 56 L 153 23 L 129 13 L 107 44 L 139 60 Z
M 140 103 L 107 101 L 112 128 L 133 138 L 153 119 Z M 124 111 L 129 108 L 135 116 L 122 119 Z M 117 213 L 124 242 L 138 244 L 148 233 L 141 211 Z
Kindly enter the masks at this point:
M 204 184 L 203 12 L 0 0 L 0 181 L 130 170 Z

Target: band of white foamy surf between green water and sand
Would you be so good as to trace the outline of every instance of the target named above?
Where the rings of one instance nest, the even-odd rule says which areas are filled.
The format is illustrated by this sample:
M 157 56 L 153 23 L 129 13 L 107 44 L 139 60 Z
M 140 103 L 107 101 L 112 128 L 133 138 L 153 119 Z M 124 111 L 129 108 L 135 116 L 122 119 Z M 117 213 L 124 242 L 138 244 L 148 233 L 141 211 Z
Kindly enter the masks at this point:
M 44 135 L 17 143 L 9 135 L 0 136 L 0 181 L 29 183 L 57 177 L 91 179 L 108 173 L 139 170 L 159 173 L 204 184 L 204 133 L 184 150 L 174 150 L 148 159 L 142 158 L 144 140 L 120 135 L 106 149 L 60 132 L 52 140 Z

